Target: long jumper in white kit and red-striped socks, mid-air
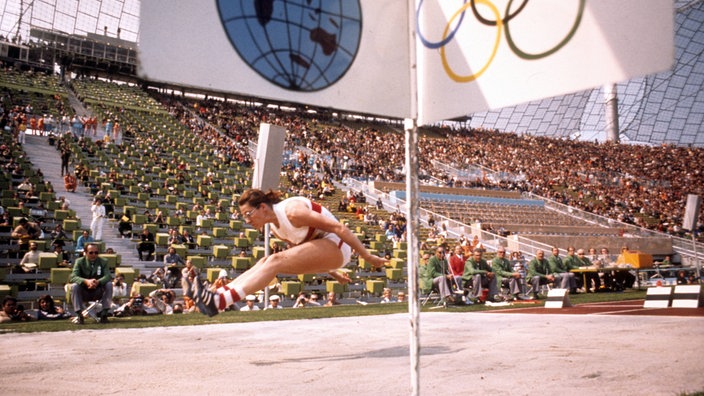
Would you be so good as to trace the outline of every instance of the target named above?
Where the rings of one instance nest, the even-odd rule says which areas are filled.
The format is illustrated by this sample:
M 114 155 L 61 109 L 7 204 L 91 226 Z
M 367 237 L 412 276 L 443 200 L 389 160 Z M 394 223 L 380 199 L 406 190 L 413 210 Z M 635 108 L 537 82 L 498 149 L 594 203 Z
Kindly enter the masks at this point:
M 327 272 L 340 283 L 347 283 L 349 277 L 338 270 L 349 262 L 353 249 L 360 258 L 375 267 L 388 264 L 383 257 L 369 253 L 357 236 L 329 210 L 307 198 L 282 200 L 278 191 L 249 189 L 240 196 L 238 204 L 248 224 L 260 230 L 265 224 L 271 224 L 274 235 L 291 247 L 262 258 L 247 272 L 215 292 L 208 290 L 196 278 L 186 293 L 193 296 L 196 306 L 208 316 L 216 315 L 248 294 L 261 290 L 280 273 Z

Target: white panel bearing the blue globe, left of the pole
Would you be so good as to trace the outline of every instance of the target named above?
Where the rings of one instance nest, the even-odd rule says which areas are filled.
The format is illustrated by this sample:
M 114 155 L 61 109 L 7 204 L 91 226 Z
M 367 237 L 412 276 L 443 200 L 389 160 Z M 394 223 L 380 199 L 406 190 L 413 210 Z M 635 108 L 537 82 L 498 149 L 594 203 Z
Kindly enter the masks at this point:
M 217 3 L 198 0 L 143 1 L 139 73 L 150 80 L 262 98 L 394 117 L 409 115 L 410 40 L 406 2 L 359 2 L 362 12 L 361 38 L 356 55 L 349 53 L 349 50 L 341 50 L 342 44 L 356 40 L 354 36 L 359 38 L 359 34 L 355 33 L 353 23 L 344 22 L 349 18 L 339 17 L 338 14 L 350 13 L 349 9 L 354 8 L 357 0 L 261 1 L 256 4 L 271 4 L 273 7 L 268 14 L 266 10 L 261 12 L 260 15 L 271 15 L 270 20 L 262 18 L 264 21 L 260 21 L 253 11 L 242 10 L 255 4 L 254 1 L 223 2 L 226 9 L 222 10 L 224 21 L 221 21 Z M 304 11 L 298 13 L 291 8 L 289 14 L 282 14 L 283 4 L 297 4 Z M 318 7 L 322 7 L 321 12 L 316 11 Z M 335 11 L 336 7 L 342 7 L 343 11 L 325 13 L 326 9 Z M 238 18 L 241 15 L 244 16 Z M 282 45 L 270 38 L 273 33 L 283 30 L 281 25 L 285 24 L 280 23 L 282 18 L 289 18 L 287 26 L 290 31 L 286 31 L 286 40 L 295 40 L 293 43 Z M 243 24 L 250 31 L 243 30 L 244 33 L 235 35 L 234 44 L 231 43 L 228 31 L 236 32 Z M 316 26 L 322 30 L 316 30 Z M 269 36 L 264 38 L 264 33 Z M 340 44 L 334 51 L 329 45 L 333 34 Z M 259 38 L 252 40 L 256 44 L 242 44 L 250 36 Z M 327 44 L 311 46 L 311 42 Z M 245 49 L 236 50 L 235 45 L 239 44 Z M 301 46 L 315 51 L 301 54 L 291 51 L 291 48 Z M 255 67 L 250 67 L 246 58 L 240 56 L 240 53 L 246 55 L 250 50 L 266 55 L 272 47 L 285 47 L 286 51 L 278 51 L 279 57 L 274 61 L 270 60 L 273 57 L 257 58 L 260 63 Z M 327 62 L 328 58 L 344 60 L 348 56 L 354 58 L 344 75 L 329 87 L 313 92 L 284 89 L 262 76 L 270 72 L 274 74 L 274 69 L 282 68 L 284 72 L 280 72 L 280 76 L 296 73 L 305 77 L 306 69 L 309 70 L 308 74 L 318 73 L 318 67 L 322 67 L 321 59 Z

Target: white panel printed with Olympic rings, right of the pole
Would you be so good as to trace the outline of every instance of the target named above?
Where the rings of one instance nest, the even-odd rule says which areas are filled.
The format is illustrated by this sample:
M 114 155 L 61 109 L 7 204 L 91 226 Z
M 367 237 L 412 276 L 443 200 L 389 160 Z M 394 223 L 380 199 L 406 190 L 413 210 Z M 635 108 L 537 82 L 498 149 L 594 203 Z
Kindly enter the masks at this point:
M 418 1 L 425 124 L 660 72 L 670 0 Z

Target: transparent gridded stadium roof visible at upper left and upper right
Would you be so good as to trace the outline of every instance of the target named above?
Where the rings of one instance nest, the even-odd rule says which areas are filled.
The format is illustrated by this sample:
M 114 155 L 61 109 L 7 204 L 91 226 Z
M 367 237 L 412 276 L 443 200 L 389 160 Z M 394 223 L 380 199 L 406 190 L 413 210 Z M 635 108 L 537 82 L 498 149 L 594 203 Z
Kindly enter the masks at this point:
M 673 6 L 676 59 L 672 70 L 617 85 L 624 142 L 704 147 L 704 0 L 674 0 Z M 30 27 L 39 27 L 139 42 L 139 12 L 140 0 L 0 0 L 0 35 L 25 42 Z M 471 114 L 468 125 L 603 140 L 603 95 L 596 88 Z

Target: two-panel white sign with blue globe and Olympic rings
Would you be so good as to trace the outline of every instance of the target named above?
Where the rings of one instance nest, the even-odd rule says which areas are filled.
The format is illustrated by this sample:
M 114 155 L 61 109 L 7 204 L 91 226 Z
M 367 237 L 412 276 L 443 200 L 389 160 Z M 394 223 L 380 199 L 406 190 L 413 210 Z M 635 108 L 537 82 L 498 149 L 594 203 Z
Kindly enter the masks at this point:
M 419 125 L 660 72 L 674 56 L 672 0 L 141 4 L 145 78 Z

